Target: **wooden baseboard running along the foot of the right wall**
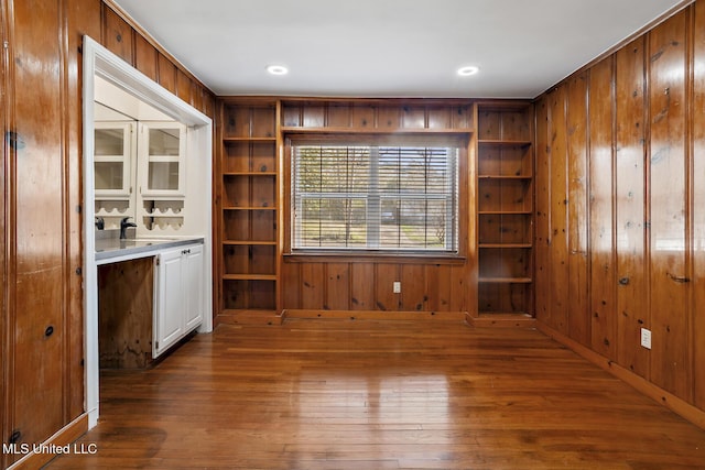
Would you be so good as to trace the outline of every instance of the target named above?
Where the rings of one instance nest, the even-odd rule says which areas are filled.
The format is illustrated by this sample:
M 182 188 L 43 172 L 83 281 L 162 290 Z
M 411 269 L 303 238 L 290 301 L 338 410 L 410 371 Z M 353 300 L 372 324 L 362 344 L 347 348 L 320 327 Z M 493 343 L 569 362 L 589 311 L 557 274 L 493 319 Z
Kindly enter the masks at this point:
M 637 389 L 642 394 L 649 396 L 655 402 L 661 403 L 675 414 L 693 423 L 695 426 L 705 429 L 705 411 L 691 405 L 683 398 L 679 398 L 670 392 L 666 392 L 660 386 L 649 382 L 644 378 L 637 375 L 629 369 L 617 364 L 610 359 L 593 351 L 592 349 L 585 347 L 584 345 L 581 345 L 574 339 L 568 338 L 567 336 L 551 328 L 542 321 L 536 321 L 536 328 L 546 336 L 558 341 L 563 346 L 572 349 L 583 358 L 611 373 L 619 380 Z

